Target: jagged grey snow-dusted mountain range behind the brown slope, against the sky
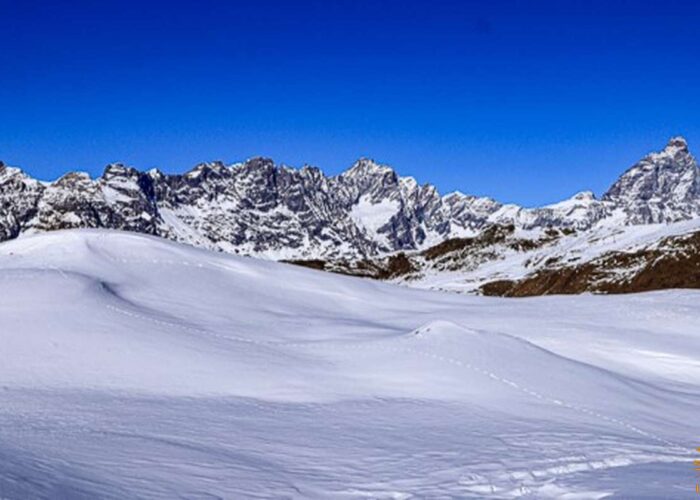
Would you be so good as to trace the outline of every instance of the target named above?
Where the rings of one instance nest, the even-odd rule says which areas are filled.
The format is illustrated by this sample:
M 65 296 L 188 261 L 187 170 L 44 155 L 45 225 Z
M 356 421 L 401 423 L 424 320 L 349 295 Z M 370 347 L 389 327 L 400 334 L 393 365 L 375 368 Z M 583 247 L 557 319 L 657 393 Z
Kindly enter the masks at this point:
M 0 240 L 65 228 L 124 229 L 273 259 L 362 259 L 475 236 L 494 225 L 588 230 L 700 216 L 700 174 L 684 139 L 630 168 L 602 199 L 582 192 L 541 207 L 504 205 L 400 177 L 362 159 L 341 175 L 255 158 L 184 175 L 114 164 L 98 179 L 52 183 L 0 164 Z

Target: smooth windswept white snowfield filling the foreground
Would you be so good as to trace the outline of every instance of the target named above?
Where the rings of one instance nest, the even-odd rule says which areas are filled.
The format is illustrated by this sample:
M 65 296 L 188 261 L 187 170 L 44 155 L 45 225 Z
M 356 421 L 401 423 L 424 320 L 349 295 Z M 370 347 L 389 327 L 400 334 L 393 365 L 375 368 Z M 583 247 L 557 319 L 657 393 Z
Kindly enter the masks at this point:
M 0 245 L 0 498 L 690 498 L 700 293 L 493 299 Z

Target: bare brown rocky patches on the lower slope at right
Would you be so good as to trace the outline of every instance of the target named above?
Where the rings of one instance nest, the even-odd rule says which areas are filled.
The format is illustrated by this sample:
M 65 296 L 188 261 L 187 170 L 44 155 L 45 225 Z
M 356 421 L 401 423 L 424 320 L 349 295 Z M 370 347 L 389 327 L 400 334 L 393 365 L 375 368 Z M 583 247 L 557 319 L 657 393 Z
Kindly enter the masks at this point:
M 492 226 L 475 238 L 446 240 L 410 254 L 361 261 L 295 261 L 313 269 L 374 279 L 420 281 L 430 271 L 470 271 L 497 261 L 507 251 L 533 255 L 546 250 L 567 233 L 549 230 L 538 239 L 513 235 L 512 226 Z M 529 297 L 584 292 L 619 294 L 700 288 L 700 231 L 665 237 L 645 248 L 610 251 L 581 263 L 562 262 L 552 255 L 534 265 L 521 279 L 484 279 L 478 293 L 502 297 Z M 570 259 L 573 260 L 573 259 Z

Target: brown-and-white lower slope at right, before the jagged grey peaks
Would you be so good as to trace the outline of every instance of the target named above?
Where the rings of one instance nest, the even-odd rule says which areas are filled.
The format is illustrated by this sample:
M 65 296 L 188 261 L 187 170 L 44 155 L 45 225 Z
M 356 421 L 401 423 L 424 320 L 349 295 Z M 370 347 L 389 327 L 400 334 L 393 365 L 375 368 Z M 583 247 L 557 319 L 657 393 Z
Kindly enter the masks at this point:
M 492 226 L 420 252 L 360 265 L 324 262 L 323 268 L 418 288 L 503 296 L 700 288 L 700 218 L 579 232 Z

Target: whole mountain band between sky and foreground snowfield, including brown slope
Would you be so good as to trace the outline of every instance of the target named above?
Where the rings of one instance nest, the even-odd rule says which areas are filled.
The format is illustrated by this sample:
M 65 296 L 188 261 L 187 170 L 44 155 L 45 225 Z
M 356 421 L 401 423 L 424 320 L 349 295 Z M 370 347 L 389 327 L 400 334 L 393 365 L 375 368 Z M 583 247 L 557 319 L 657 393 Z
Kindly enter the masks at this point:
M 0 163 L 0 241 L 75 228 L 487 295 L 700 287 L 700 169 L 682 137 L 602 197 L 540 208 L 441 195 L 369 159 L 333 177 L 253 158 L 50 183 Z

